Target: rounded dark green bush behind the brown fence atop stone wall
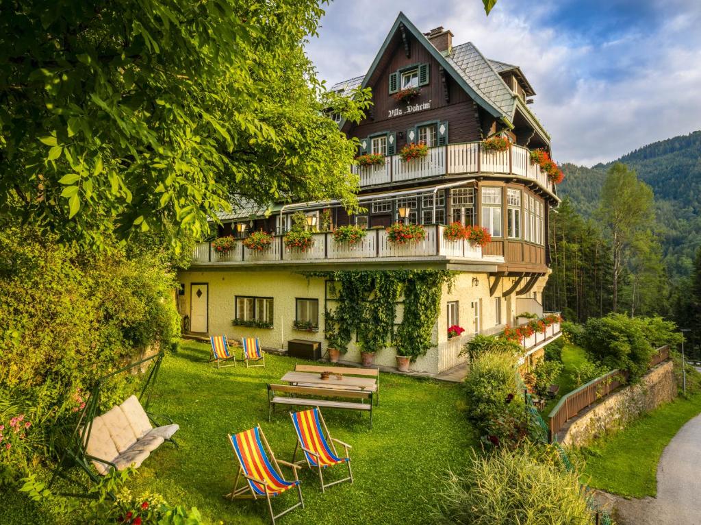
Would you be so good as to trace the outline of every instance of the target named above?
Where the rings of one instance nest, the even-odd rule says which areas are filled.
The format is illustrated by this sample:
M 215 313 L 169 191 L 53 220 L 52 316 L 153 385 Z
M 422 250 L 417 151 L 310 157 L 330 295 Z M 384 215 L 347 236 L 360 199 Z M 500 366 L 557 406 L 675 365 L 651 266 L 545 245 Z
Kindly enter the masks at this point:
M 592 360 L 611 369 L 627 370 L 632 380 L 648 371 L 656 348 L 680 342 L 674 323 L 625 314 L 589 319 L 582 335 L 582 346 Z

